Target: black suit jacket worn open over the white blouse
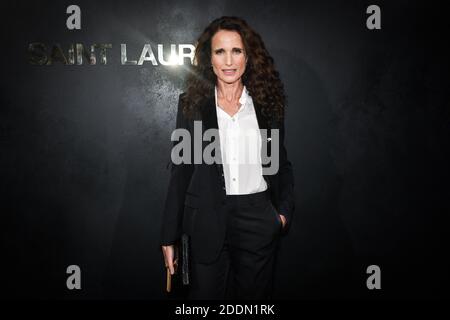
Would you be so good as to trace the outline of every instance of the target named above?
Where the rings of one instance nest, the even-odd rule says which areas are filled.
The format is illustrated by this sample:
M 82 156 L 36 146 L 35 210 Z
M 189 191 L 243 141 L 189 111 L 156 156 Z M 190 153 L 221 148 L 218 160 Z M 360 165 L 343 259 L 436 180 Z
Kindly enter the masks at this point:
M 183 94 L 178 100 L 176 128 L 189 130 L 191 137 L 194 137 L 194 120 L 202 120 L 202 134 L 210 128 L 218 129 L 214 91 L 192 119 L 183 114 Z M 263 177 L 269 185 L 274 207 L 287 219 L 282 231 L 286 233 L 292 222 L 295 199 L 292 165 L 284 146 L 284 121 L 269 121 L 262 114 L 260 106 L 255 102 L 254 106 L 259 128 L 268 129 L 267 137 L 270 137 L 271 128 L 279 129 L 279 170 L 273 175 L 263 174 Z M 176 143 L 178 142 L 173 145 Z M 202 150 L 209 143 L 203 142 Z M 267 148 L 270 150 L 270 145 Z M 183 232 L 187 233 L 191 239 L 191 254 L 194 259 L 208 263 L 218 256 L 224 241 L 226 220 L 221 209 L 226 197 L 225 179 L 222 164 L 206 164 L 203 161 L 201 164 L 194 164 L 193 152 L 191 156 L 191 164 L 173 164 L 170 161 L 171 173 L 163 212 L 161 244 L 174 244 Z

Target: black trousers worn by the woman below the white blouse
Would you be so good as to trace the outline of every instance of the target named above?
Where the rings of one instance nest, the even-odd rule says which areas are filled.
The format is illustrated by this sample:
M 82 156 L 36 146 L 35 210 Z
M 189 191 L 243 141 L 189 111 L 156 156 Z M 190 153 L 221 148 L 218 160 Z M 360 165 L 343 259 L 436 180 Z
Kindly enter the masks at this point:
M 224 245 L 212 263 L 191 261 L 188 299 L 270 299 L 282 228 L 269 190 L 227 195 Z

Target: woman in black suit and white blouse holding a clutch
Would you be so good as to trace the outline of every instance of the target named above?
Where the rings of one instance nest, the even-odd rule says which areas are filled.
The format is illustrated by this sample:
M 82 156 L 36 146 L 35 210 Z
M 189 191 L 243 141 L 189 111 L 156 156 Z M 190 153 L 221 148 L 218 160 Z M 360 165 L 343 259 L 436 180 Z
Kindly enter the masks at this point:
M 284 106 L 283 84 L 261 37 L 237 17 L 212 21 L 198 39 L 176 127 L 192 137 L 196 121 L 202 132 L 218 129 L 219 161 L 172 163 L 162 226 L 171 274 L 174 243 L 182 233 L 190 236 L 190 299 L 271 297 L 279 236 L 295 206 Z M 276 172 L 264 171 L 264 147 L 275 150 Z

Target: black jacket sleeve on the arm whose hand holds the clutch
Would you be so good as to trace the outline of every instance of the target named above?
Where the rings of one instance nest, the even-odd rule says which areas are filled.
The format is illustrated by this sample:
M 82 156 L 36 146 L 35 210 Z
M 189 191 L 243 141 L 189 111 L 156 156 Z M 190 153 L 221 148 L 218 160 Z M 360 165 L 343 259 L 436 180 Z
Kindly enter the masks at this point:
M 178 98 L 176 129 L 188 129 L 188 123 L 183 115 L 181 97 Z M 172 146 L 178 142 L 174 141 Z M 184 198 L 191 180 L 193 164 L 174 164 L 171 160 L 170 180 L 163 211 L 161 245 L 171 245 L 181 237 L 184 212 Z

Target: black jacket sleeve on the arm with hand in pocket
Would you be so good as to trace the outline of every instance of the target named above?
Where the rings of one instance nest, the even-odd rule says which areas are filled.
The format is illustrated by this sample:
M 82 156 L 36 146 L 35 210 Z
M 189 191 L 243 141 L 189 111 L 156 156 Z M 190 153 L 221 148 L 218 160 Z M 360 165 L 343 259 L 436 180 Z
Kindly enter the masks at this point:
M 285 147 L 285 129 L 284 118 L 280 125 L 280 168 L 279 168 L 279 213 L 286 217 L 286 226 L 284 230 L 288 230 L 293 213 L 295 210 L 295 196 L 294 196 L 294 174 L 292 164 L 288 160 L 287 151 Z

